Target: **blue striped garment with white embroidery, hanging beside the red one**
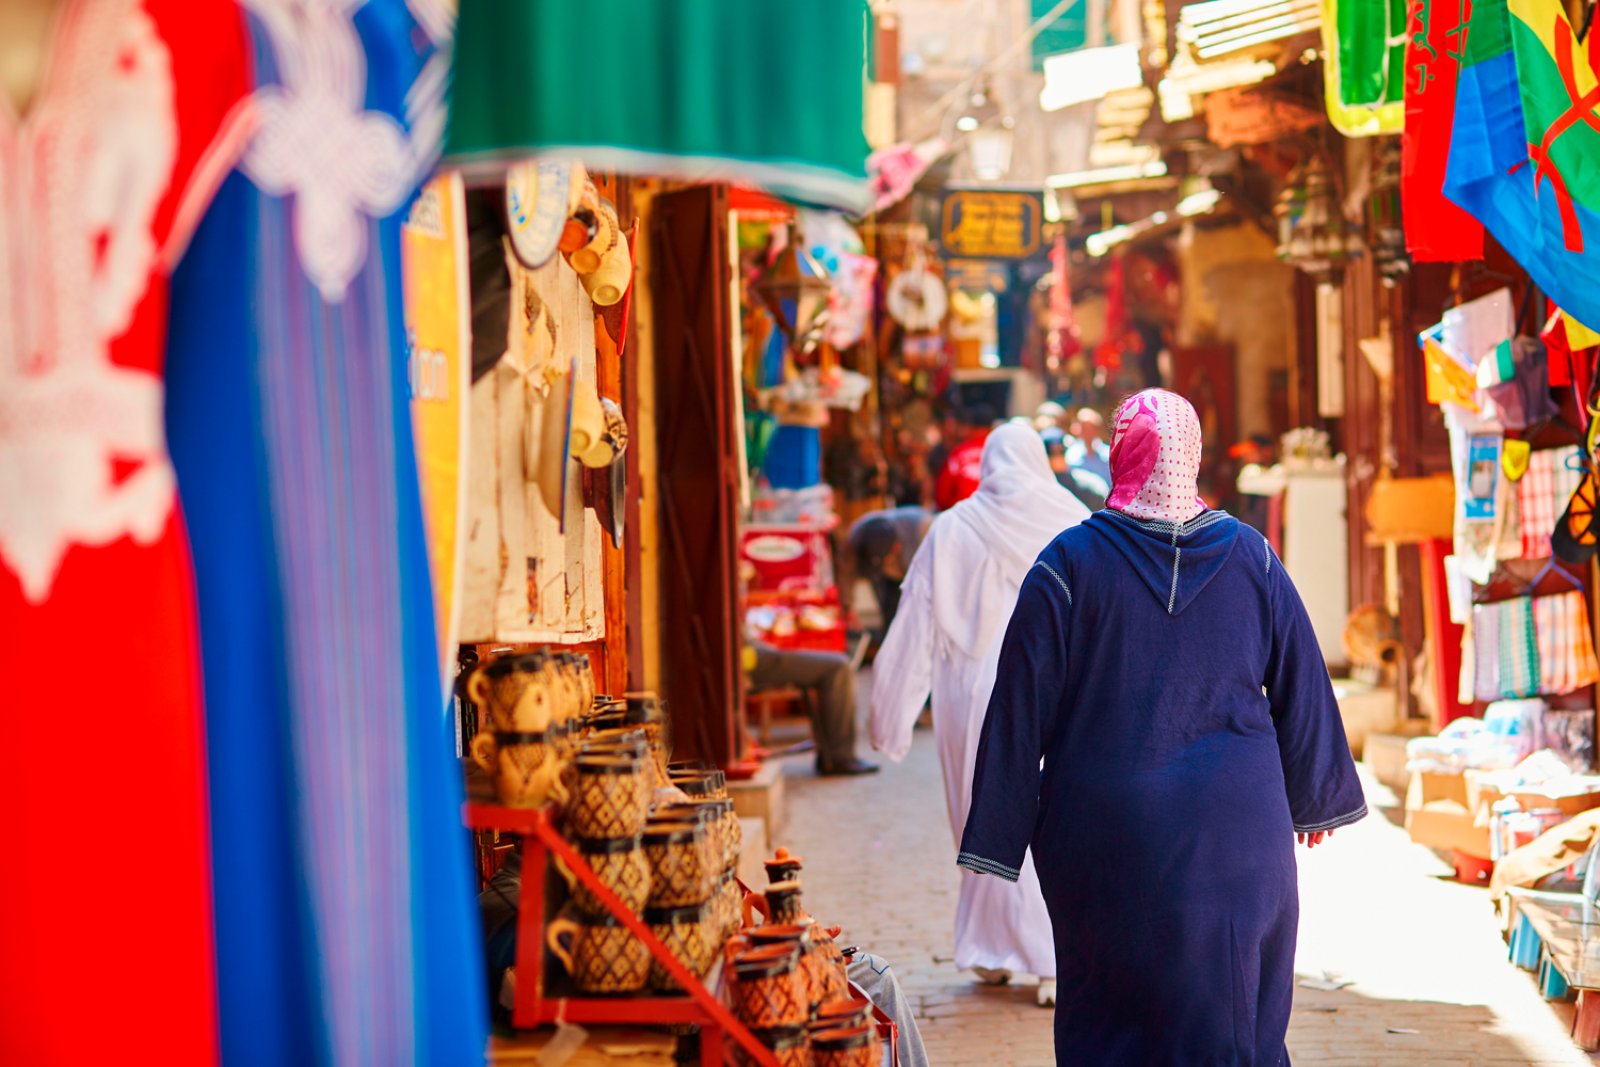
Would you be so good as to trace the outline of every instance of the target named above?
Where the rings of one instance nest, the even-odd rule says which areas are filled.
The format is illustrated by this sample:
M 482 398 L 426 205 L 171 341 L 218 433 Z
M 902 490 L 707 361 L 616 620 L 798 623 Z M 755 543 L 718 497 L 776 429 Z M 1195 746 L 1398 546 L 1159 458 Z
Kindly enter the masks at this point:
M 482 1064 L 400 309 L 450 19 L 422 0 L 245 6 L 258 123 L 174 278 L 168 406 L 222 1059 Z

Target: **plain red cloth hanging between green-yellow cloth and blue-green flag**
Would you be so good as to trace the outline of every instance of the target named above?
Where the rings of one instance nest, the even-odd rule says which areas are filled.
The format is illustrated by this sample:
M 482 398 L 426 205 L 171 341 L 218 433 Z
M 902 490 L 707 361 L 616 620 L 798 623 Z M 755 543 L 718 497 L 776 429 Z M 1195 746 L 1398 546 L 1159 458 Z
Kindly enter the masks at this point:
M 1467 0 L 1408 0 L 1400 214 L 1418 262 L 1483 258 L 1483 226 L 1445 198 Z

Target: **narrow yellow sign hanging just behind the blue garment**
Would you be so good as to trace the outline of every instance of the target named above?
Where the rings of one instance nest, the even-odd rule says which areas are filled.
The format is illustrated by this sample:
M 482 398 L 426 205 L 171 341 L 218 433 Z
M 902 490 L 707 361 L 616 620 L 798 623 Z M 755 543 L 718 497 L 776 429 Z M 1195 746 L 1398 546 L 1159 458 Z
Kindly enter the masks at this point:
M 440 670 L 448 694 L 461 627 L 467 418 L 472 408 L 472 306 L 467 298 L 466 194 L 459 174 L 435 178 L 422 189 L 400 240 L 411 427 L 434 577 Z

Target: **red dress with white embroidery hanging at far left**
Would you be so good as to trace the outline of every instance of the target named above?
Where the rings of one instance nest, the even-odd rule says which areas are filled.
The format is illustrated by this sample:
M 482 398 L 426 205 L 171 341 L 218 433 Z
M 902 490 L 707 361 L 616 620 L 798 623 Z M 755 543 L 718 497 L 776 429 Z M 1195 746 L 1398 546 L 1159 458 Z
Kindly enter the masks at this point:
M 91 1003 L 93 1029 L 123 1048 L 211 1064 L 200 649 L 162 366 L 168 272 L 243 131 L 245 29 L 222 2 L 69 0 L 46 48 L 27 114 L 0 102 L 0 675 L 13 712 L 0 1062 L 82 1057 L 72 1035 Z M 66 837 L 85 833 L 80 857 Z M 85 992 L 98 960 L 122 979 Z

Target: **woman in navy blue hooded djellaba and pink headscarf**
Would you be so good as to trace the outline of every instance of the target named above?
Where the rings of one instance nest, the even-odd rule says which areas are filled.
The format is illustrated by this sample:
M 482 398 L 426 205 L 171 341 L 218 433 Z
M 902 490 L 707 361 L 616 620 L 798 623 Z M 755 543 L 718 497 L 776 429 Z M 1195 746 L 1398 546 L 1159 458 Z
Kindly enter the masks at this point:
M 1018 595 L 958 862 L 1034 849 L 1056 1062 L 1286 1065 L 1294 840 L 1366 814 L 1333 686 L 1272 547 L 1200 502 L 1189 402 L 1126 400 L 1110 464 Z

